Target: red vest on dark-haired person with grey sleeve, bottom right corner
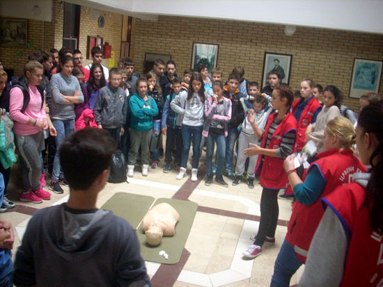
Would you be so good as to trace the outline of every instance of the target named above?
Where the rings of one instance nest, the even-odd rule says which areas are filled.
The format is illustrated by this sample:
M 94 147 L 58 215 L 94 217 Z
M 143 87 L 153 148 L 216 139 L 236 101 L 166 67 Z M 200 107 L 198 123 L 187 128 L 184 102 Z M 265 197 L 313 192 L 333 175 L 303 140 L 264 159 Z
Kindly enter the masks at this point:
M 380 286 L 383 283 L 383 234 L 371 228 L 363 206 L 366 192 L 358 183 L 341 186 L 322 199 L 341 220 L 350 236 L 340 286 Z

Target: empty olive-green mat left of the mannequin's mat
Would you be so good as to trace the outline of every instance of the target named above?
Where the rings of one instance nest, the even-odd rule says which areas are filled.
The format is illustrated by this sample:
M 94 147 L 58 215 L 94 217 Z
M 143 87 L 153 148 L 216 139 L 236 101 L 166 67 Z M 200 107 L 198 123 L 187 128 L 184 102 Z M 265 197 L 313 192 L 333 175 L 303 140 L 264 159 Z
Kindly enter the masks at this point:
M 154 201 L 154 197 L 146 195 L 117 192 L 101 208 L 113 211 L 115 215 L 127 220 L 136 229 Z

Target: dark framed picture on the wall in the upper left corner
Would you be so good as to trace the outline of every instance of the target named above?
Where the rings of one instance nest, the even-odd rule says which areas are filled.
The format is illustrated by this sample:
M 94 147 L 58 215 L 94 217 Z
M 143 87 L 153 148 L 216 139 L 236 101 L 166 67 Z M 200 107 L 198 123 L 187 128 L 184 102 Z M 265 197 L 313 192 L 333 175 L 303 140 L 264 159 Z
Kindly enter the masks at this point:
M 27 24 L 26 19 L 0 19 L 0 44 L 25 45 Z

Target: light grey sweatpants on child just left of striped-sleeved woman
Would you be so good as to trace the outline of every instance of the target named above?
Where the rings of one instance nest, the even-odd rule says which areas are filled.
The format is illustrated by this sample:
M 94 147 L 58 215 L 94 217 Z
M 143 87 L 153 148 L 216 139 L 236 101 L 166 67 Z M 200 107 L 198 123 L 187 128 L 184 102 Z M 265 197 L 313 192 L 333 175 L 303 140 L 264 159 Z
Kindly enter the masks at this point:
M 244 173 L 244 165 L 246 163 L 247 156 L 243 154 L 244 149 L 250 147 L 250 143 L 259 145 L 259 142 L 255 135 L 249 135 L 241 131 L 240 138 L 238 139 L 238 154 L 237 165 L 235 165 L 235 176 L 242 177 Z M 256 163 L 258 160 L 258 154 L 256 156 L 249 157 L 249 167 L 247 167 L 247 178 L 253 179 L 256 173 Z

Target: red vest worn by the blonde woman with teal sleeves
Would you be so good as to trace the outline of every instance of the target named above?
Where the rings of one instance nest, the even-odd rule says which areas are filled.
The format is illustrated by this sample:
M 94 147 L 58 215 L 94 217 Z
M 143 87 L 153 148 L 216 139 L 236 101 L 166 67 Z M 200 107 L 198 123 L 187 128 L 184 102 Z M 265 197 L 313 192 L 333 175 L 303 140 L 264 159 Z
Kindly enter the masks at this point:
M 311 164 L 308 172 L 316 165 L 322 173 L 326 186 L 321 197 L 329 195 L 338 186 L 350 183 L 351 174 L 366 171 L 366 167 L 353 155 L 351 149 L 330 149 L 317 156 L 318 161 Z M 324 213 L 320 198 L 310 205 L 295 202 L 292 207 L 286 240 L 294 247 L 297 258 L 302 263 L 306 262 L 308 247 Z

